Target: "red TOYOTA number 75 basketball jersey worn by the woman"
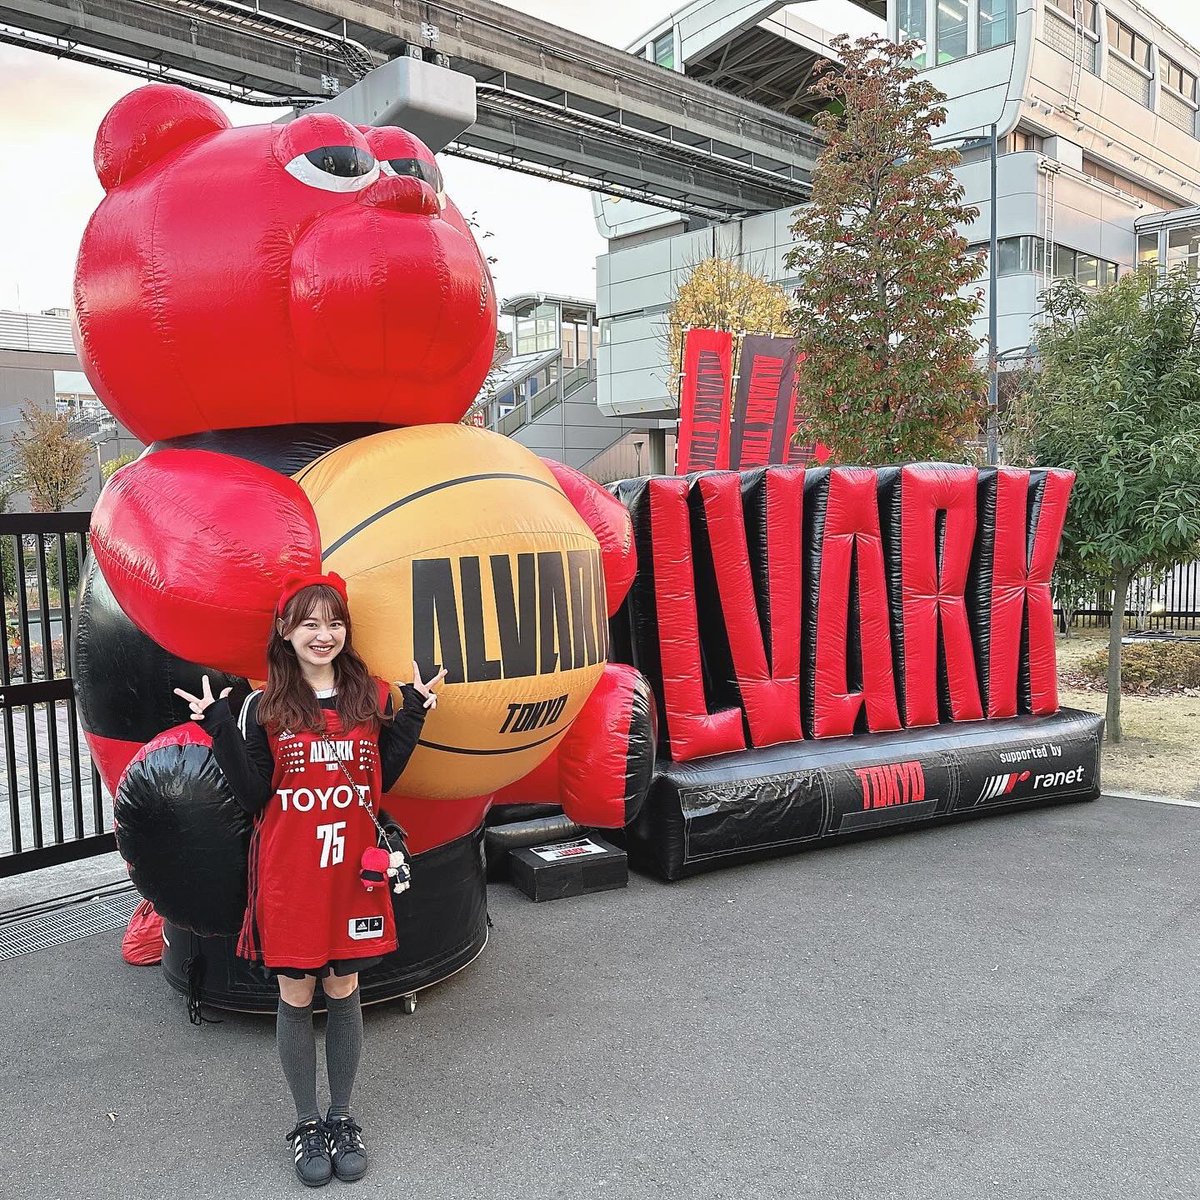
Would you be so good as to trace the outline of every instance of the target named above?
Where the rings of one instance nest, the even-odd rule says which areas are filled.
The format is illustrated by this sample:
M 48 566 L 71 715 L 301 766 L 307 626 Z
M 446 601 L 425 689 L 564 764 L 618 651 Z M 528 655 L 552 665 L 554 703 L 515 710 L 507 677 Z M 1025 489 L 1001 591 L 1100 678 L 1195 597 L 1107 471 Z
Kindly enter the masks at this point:
M 383 707 L 386 684 L 379 689 Z M 251 836 L 238 953 L 269 967 L 316 968 L 396 948 L 390 889 L 367 892 L 359 878 L 377 838 L 362 797 L 378 812 L 379 738 L 365 726 L 343 731 L 336 710 L 324 715 L 324 734 L 268 732 L 272 796 Z

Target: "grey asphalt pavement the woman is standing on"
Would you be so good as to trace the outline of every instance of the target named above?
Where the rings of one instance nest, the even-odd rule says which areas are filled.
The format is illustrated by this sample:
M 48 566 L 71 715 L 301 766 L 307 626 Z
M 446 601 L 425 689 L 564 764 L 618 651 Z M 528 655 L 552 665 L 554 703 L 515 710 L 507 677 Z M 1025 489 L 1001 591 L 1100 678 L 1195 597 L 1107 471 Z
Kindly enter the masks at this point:
M 493 886 L 479 961 L 368 1010 L 355 1192 L 1193 1200 L 1198 860 L 1200 811 L 1105 798 L 546 905 Z M 0 1190 L 306 1194 L 271 1022 L 193 1028 L 118 947 L 0 962 Z

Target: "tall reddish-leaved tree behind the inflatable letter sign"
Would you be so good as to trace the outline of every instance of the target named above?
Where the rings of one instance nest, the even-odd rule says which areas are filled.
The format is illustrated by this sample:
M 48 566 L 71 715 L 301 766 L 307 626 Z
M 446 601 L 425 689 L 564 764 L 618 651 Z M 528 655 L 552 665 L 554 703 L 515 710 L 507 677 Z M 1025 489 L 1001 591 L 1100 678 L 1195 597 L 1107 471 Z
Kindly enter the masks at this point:
M 961 461 L 978 433 L 986 384 L 971 323 L 983 260 L 960 227 L 954 149 L 932 144 L 946 97 L 918 78 L 918 43 L 833 41 L 841 66 L 814 91 L 826 146 L 812 203 L 797 211 L 794 322 L 802 442 L 835 462 Z

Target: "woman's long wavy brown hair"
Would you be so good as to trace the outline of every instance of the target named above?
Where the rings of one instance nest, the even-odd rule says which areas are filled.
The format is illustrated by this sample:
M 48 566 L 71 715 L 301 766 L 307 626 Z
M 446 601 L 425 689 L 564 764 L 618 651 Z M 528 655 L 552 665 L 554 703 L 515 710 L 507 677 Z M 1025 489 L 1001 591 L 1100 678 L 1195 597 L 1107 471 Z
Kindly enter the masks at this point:
M 378 689 L 367 665 L 350 644 L 350 613 L 346 601 L 328 583 L 302 588 L 284 605 L 282 634 L 277 622 L 271 626 L 271 640 L 266 643 L 266 685 L 258 706 L 259 724 L 276 733 L 281 730 L 293 733 L 324 731 L 320 703 L 300 670 L 292 643 L 284 640 L 298 625 L 322 611 L 329 619 L 346 625 L 346 644 L 334 659 L 334 686 L 337 689 L 334 704 L 342 728 L 348 732 L 366 725 L 377 732 L 383 720 Z

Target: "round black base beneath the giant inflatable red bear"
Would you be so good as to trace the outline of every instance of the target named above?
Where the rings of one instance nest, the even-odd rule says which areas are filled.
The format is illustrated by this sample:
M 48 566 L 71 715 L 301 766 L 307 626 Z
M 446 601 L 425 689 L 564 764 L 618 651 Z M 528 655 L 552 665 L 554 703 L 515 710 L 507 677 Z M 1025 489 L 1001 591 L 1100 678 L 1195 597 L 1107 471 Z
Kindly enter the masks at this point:
M 402 1000 L 440 983 L 472 962 L 487 942 L 487 882 L 481 829 L 418 854 L 413 886 L 392 896 L 400 946 L 362 972 L 362 1002 Z M 238 958 L 235 937 L 200 937 L 176 925 L 163 926 L 162 971 L 190 1004 L 204 1003 L 241 1013 L 274 1013 L 280 998 L 266 970 Z M 324 994 L 314 998 L 318 1012 Z

